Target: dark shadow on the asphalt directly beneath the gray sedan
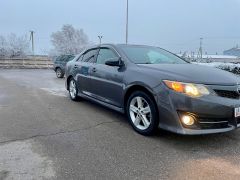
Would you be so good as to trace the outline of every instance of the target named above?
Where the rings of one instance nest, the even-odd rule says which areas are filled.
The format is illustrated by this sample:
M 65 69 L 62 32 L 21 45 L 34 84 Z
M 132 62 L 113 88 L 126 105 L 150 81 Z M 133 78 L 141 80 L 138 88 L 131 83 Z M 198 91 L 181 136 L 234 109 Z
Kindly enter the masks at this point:
M 89 106 L 93 111 L 101 111 L 104 115 L 107 115 L 110 118 L 113 118 L 119 123 L 129 126 L 129 131 L 133 131 L 131 125 L 128 123 L 128 119 L 125 114 L 116 112 L 112 109 L 103 107 L 98 103 L 81 100 L 79 103 Z M 142 136 L 139 134 L 139 136 Z M 228 145 L 231 142 L 239 142 L 240 140 L 240 131 L 235 130 L 231 132 L 218 133 L 218 134 L 206 134 L 206 135 L 180 135 L 172 132 L 168 132 L 162 129 L 159 129 L 154 135 L 148 136 L 158 141 L 164 141 L 167 144 L 174 145 L 175 148 L 179 149 L 192 149 L 195 151 L 204 146 L 216 147 L 220 146 L 221 148 L 228 148 Z

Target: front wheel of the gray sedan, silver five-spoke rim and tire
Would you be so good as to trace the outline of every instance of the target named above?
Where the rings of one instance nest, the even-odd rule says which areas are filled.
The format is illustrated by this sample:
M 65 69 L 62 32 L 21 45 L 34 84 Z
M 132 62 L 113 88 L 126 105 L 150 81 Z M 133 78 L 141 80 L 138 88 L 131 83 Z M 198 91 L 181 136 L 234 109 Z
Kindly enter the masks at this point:
M 128 98 L 127 116 L 133 129 L 148 136 L 158 129 L 158 110 L 154 100 L 143 91 L 133 92 Z

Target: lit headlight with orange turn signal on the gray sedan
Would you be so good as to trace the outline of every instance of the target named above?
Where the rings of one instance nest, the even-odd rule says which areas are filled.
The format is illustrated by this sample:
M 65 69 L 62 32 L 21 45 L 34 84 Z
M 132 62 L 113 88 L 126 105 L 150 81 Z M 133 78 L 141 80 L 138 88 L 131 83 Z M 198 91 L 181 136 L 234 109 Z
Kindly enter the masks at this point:
M 183 83 L 177 81 L 163 81 L 166 86 L 176 92 L 184 93 L 192 97 L 200 97 L 210 94 L 209 90 L 201 84 Z

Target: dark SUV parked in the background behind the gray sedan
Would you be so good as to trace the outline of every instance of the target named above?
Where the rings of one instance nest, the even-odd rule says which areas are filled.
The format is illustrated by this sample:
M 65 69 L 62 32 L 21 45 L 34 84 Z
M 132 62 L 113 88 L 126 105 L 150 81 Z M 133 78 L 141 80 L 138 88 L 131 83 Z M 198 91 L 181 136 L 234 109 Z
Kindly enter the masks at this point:
M 53 69 L 58 78 L 64 77 L 66 64 L 68 61 L 73 60 L 74 57 L 74 55 L 62 55 L 55 59 Z

